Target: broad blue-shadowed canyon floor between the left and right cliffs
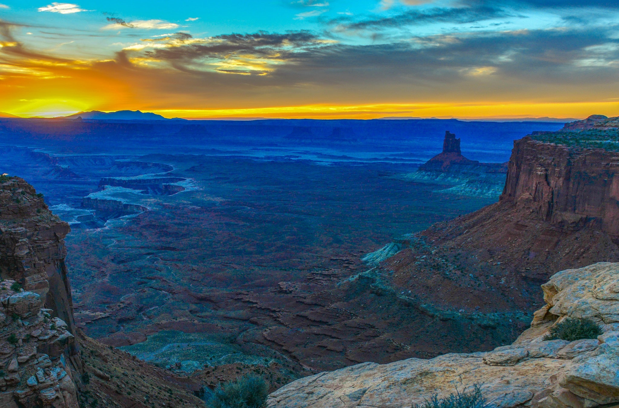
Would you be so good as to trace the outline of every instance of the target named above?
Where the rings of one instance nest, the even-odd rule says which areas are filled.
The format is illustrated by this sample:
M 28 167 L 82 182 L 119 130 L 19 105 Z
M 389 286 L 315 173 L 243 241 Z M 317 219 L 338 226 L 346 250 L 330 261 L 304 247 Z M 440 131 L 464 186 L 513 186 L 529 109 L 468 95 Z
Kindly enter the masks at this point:
M 24 144 L 5 145 L 2 160 L 71 223 L 76 324 L 204 384 L 259 370 L 275 389 L 358 362 L 490 350 L 534 310 L 509 303 L 478 316 L 461 297 L 449 308 L 469 314 L 452 318 L 413 296 L 433 290 L 408 297 L 396 268 L 361 260 L 496 201 L 402 178 L 439 149 L 433 139 L 365 152 Z M 473 157 L 503 162 L 511 136 L 493 149 Z

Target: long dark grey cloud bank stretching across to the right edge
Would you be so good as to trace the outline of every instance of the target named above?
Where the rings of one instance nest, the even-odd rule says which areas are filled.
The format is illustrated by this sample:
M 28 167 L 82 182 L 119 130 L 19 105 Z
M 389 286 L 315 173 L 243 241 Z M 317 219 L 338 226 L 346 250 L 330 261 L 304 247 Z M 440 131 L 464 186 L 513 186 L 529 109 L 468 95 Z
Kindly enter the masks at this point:
M 313 85 L 345 87 L 347 92 L 395 87 L 395 92 L 513 92 L 550 84 L 599 85 L 617 82 L 617 27 L 561 28 L 417 37 L 378 45 L 322 43 L 307 32 L 222 35 L 207 44 L 188 44 L 147 53 L 173 69 L 226 82 L 231 88 Z M 599 50 L 591 48 L 599 46 Z M 204 71 L 205 63 L 235 53 L 279 64 L 263 76 L 230 76 Z M 227 73 L 248 73 L 224 67 Z M 233 78 L 232 78 L 233 77 Z M 480 87 L 480 83 L 483 83 Z M 493 84 L 488 86 L 488 84 Z M 514 84 L 517 84 L 514 85 Z M 540 85 L 542 84 L 542 85 Z M 384 89 L 381 92 L 384 92 Z

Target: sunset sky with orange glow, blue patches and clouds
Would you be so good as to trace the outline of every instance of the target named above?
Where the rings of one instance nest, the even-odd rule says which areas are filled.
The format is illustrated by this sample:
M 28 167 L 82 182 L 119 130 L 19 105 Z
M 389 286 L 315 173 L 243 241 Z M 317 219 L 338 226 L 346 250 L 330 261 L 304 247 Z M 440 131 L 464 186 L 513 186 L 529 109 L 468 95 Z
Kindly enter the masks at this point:
M 0 112 L 619 115 L 614 0 L 0 0 Z

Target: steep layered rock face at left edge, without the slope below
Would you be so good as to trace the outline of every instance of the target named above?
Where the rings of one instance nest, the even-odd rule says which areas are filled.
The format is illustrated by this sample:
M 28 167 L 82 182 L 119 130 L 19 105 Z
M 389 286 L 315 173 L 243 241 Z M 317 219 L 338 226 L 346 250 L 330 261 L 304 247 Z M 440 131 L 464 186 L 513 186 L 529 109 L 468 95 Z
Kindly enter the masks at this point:
M 78 408 L 75 341 L 63 238 L 24 180 L 0 181 L 0 406 Z

